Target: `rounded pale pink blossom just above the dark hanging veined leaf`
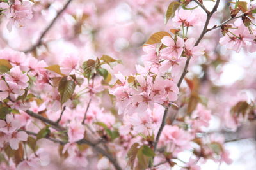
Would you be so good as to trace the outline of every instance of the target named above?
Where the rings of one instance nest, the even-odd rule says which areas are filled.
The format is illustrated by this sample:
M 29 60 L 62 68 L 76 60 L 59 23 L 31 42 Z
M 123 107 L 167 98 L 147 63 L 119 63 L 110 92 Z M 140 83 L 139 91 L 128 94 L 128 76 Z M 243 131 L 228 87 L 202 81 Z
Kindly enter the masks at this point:
M 65 57 L 65 59 L 60 64 L 61 73 L 66 75 L 74 73 L 74 70 L 78 66 L 77 64 L 78 61 L 79 61 L 79 57 L 77 57 L 77 55 Z

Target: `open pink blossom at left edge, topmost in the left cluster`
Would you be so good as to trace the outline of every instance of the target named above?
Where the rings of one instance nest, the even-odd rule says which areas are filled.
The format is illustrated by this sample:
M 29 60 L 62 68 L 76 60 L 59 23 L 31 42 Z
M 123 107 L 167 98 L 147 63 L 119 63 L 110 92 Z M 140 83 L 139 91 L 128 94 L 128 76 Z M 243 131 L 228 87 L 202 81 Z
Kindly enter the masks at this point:
M 20 85 L 22 88 L 28 87 L 29 78 L 26 74 L 23 74 L 19 66 L 12 67 L 10 74 L 6 74 L 6 81 L 12 81 Z

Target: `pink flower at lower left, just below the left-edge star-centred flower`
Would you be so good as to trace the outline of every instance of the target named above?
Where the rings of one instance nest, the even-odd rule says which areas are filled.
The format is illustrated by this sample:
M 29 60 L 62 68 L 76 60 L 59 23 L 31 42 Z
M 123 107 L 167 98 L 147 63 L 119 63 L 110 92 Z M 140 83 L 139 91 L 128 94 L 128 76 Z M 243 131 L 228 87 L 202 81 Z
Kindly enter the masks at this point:
M 9 143 L 13 150 L 17 150 L 19 148 L 19 142 L 27 141 L 27 139 L 28 139 L 28 134 L 26 134 L 26 132 L 16 131 L 16 132 L 12 132 L 12 134 L 10 134 Z

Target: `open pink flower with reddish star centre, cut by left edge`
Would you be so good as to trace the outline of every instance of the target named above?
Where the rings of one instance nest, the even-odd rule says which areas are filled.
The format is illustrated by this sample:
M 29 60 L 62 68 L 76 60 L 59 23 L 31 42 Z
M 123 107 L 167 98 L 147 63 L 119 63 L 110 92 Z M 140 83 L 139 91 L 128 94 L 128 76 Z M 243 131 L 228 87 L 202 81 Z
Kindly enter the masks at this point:
M 20 128 L 20 123 L 13 118 L 12 114 L 6 115 L 6 121 L 0 120 L 0 131 L 4 133 L 12 133 Z

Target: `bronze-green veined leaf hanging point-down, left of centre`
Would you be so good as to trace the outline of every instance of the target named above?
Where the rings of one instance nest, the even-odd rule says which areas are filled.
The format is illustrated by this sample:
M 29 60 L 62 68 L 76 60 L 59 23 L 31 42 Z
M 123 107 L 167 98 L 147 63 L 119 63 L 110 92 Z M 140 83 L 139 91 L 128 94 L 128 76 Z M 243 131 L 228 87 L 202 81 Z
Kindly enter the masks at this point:
M 72 94 L 74 93 L 76 84 L 72 80 L 67 80 L 67 76 L 61 78 L 59 86 L 58 86 L 58 91 L 60 93 L 60 103 L 61 106 L 63 103 L 68 101 L 72 97 Z

